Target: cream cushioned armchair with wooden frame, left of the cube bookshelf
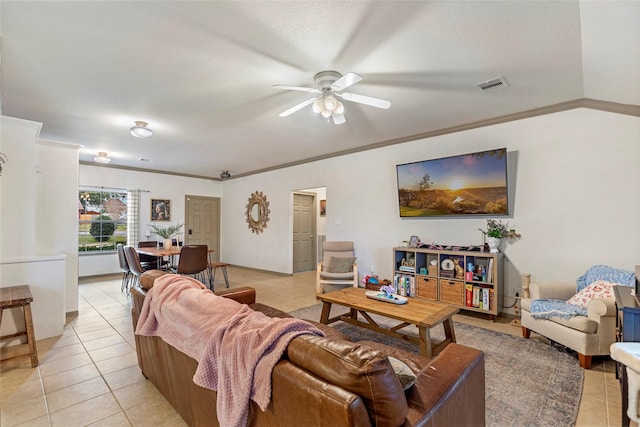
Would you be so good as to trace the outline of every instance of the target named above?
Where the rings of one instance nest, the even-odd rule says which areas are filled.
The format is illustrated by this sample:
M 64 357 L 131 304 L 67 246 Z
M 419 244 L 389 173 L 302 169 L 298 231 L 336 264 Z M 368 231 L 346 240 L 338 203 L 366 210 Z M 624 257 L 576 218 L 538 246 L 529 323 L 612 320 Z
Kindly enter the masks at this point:
M 353 242 L 323 242 L 322 262 L 316 272 L 316 294 L 324 293 L 324 285 L 358 287 L 358 264 Z

